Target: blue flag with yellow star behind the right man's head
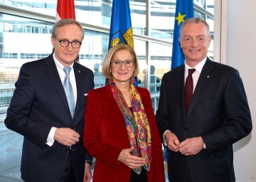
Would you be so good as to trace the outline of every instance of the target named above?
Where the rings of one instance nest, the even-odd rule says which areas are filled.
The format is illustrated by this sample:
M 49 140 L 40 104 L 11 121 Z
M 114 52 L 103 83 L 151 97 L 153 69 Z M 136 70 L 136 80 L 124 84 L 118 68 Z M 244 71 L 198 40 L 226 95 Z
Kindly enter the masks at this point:
M 193 17 L 193 0 L 177 0 L 174 21 L 174 41 L 171 57 L 171 70 L 174 70 L 174 68 L 184 63 L 185 58 L 178 38 L 180 36 L 182 22 L 191 17 Z

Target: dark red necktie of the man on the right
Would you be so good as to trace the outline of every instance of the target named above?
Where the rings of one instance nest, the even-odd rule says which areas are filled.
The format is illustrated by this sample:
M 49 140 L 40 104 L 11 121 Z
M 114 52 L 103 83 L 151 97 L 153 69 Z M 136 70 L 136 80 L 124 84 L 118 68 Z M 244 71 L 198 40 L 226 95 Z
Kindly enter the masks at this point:
M 186 83 L 185 83 L 185 113 L 188 113 L 188 108 L 189 105 L 191 103 L 191 99 L 193 96 L 193 77 L 192 74 L 195 72 L 196 70 L 193 69 L 189 69 L 188 70 L 188 77 L 186 77 Z

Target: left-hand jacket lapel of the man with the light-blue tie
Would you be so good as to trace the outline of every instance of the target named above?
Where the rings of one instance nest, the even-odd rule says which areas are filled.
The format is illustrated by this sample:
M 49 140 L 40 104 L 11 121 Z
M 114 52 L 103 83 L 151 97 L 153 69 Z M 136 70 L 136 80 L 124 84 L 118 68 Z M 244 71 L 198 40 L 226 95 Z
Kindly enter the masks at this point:
M 50 76 L 50 80 L 53 82 L 53 85 L 55 85 L 55 88 L 58 91 L 58 95 L 60 95 L 61 99 L 63 100 L 65 107 L 68 109 L 68 112 L 70 112 L 68 107 L 68 100 L 66 98 L 63 84 L 60 80 L 60 75 L 58 74 L 57 67 L 54 63 L 53 55 L 50 55 L 46 60 L 46 72 Z

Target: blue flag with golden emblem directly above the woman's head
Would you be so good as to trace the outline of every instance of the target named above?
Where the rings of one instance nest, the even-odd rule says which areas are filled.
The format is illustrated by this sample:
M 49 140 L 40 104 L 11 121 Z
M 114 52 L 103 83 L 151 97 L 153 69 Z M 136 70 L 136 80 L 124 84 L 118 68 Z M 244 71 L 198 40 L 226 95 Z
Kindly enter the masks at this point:
M 129 0 L 113 0 L 109 49 L 117 44 L 134 48 Z

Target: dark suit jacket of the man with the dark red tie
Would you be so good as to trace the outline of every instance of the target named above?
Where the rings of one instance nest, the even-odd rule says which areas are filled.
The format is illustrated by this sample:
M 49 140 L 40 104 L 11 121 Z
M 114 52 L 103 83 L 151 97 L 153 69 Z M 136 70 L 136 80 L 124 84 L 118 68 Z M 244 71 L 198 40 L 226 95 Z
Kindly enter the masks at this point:
M 162 79 L 156 112 L 160 135 L 169 129 L 180 142 L 203 137 L 207 149 L 186 157 L 193 181 L 235 181 L 232 144 L 252 130 L 238 70 L 207 59 L 186 116 L 184 69 L 181 65 Z M 169 151 L 169 181 L 177 180 L 181 157 L 180 152 Z

